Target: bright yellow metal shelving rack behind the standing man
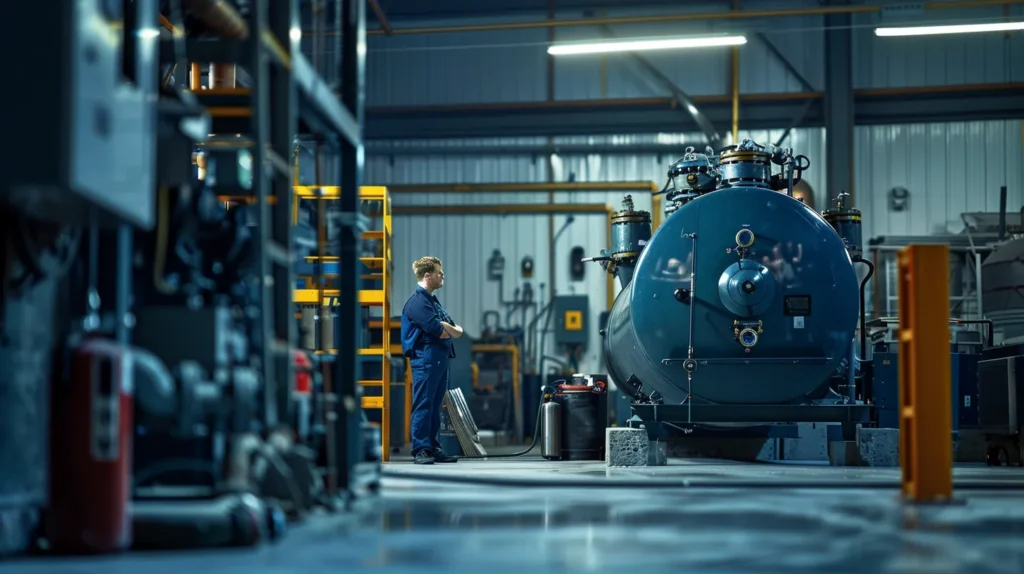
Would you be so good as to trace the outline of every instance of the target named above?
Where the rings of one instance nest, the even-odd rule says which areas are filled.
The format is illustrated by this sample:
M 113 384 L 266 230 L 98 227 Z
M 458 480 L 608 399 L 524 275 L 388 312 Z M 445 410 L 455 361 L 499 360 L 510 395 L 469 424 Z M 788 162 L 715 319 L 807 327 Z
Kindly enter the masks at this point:
M 296 185 L 294 186 L 296 201 L 315 202 L 338 202 L 345 195 L 343 190 L 337 186 L 323 185 Z M 359 379 L 358 385 L 364 389 L 379 388 L 380 395 L 362 396 L 360 406 L 366 409 L 381 410 L 381 456 L 386 462 L 390 459 L 390 434 L 391 434 L 391 274 L 393 263 L 391 260 L 391 197 L 387 187 L 362 186 L 358 191 L 360 204 L 369 207 L 364 213 L 373 213 L 375 219 L 379 219 L 378 229 L 367 229 L 361 233 L 365 241 L 380 241 L 380 256 L 360 257 L 359 263 L 365 267 L 364 273 L 358 278 L 366 283 L 373 283 L 372 286 L 365 284 L 358 290 L 358 304 L 362 308 L 379 307 L 381 317 L 372 320 L 360 321 L 362 327 L 362 340 L 371 339 L 370 329 L 381 329 L 381 346 L 368 347 L 359 345 L 357 355 L 360 357 L 379 358 L 381 361 L 380 379 Z M 326 237 L 324 229 L 319 229 L 317 236 L 323 241 Z M 313 264 L 315 286 L 306 285 L 305 289 L 296 289 L 293 301 L 299 306 L 321 306 L 322 308 L 337 308 L 343 293 L 340 281 L 343 279 L 339 258 L 335 255 L 326 254 L 326 246 L 319 246 L 321 255 L 306 257 L 308 263 Z M 333 277 L 334 285 L 328 286 L 327 277 Z M 340 315 L 340 313 L 339 313 Z M 340 346 L 335 348 L 317 349 L 318 354 L 337 355 Z

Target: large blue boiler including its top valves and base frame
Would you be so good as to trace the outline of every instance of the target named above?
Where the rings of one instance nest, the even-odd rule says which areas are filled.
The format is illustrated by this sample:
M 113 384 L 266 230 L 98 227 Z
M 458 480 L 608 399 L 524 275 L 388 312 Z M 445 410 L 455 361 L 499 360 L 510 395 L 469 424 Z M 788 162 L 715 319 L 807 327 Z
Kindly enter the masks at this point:
M 669 215 L 652 235 L 630 198 L 614 214 L 615 244 L 591 259 L 623 285 L 604 355 L 644 422 L 852 432 L 869 421 L 847 366 L 863 321 L 860 213 L 844 198 L 819 215 L 793 197 L 809 167 L 751 140 L 718 157 L 689 148 L 669 171 Z

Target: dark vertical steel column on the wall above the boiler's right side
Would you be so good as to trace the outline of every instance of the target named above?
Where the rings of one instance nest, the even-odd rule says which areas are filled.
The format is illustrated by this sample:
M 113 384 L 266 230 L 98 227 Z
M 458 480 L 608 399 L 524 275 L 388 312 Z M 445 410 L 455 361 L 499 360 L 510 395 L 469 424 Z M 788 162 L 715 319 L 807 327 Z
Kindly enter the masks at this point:
M 850 0 L 831 0 L 849 5 Z M 849 13 L 825 16 L 825 188 L 853 195 L 853 34 Z

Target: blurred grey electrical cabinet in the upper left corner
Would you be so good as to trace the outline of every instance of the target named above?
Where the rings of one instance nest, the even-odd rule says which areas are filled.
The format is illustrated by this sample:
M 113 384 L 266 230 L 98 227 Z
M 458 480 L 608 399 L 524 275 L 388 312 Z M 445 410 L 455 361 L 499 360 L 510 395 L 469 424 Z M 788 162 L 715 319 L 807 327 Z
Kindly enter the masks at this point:
M 131 13 L 123 13 L 122 5 L 4 3 L 0 36 L 6 41 L 24 38 L 27 23 L 47 23 L 51 32 L 45 42 L 5 46 L 17 54 L 7 60 L 8 77 L 25 80 L 9 92 L 22 103 L 0 120 L 10 160 L 0 170 L 0 201 L 46 221 L 95 217 L 101 225 L 153 226 L 157 6 L 135 0 Z M 125 18 L 148 27 L 127 45 Z M 127 65 L 122 53 L 129 54 Z

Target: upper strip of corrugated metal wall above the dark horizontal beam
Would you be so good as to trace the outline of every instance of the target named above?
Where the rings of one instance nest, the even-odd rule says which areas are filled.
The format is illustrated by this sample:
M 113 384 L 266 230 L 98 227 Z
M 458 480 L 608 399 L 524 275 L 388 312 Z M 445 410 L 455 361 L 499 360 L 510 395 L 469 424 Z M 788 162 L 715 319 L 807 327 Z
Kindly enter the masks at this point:
M 682 4 L 682 3 L 681 3 Z M 770 8 L 765 2 L 764 8 Z M 791 4 L 792 7 L 792 4 Z M 762 8 L 759 3 L 758 8 Z M 679 6 L 708 12 L 721 6 Z M 1010 6 L 1024 15 L 1024 6 Z M 636 9 L 629 14 L 648 13 Z M 607 15 L 625 15 L 608 13 Z M 976 21 L 1000 18 L 1002 7 L 934 10 L 914 15 L 928 21 Z M 565 14 L 564 17 L 581 17 Z M 537 16 L 521 19 L 535 20 Z M 515 21 L 515 20 L 509 20 Z M 1024 36 L 985 34 L 920 38 L 876 38 L 876 14 L 854 18 L 854 85 L 856 88 L 939 86 L 1024 81 Z M 886 20 L 899 26 L 902 20 Z M 756 33 L 764 33 L 815 89 L 823 89 L 823 20 L 821 16 L 763 18 L 732 23 L 681 21 L 613 27 L 620 38 L 741 32 L 749 43 L 740 49 L 743 93 L 794 92 L 802 86 L 769 53 Z M 419 23 L 430 26 L 434 23 Z M 438 23 L 451 25 L 452 23 Z M 466 23 L 460 23 L 466 24 Z M 373 36 L 367 64 L 368 105 L 427 105 L 539 101 L 546 98 L 548 46 L 546 30 L 513 30 L 423 36 Z M 556 31 L 556 41 L 601 38 L 593 28 Z M 729 90 L 729 50 L 650 52 L 645 57 L 690 95 L 722 95 Z M 555 60 L 556 99 L 651 97 L 665 90 L 631 65 L 628 57 L 560 57 Z

